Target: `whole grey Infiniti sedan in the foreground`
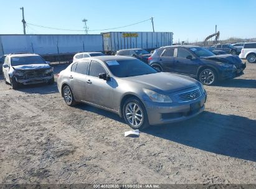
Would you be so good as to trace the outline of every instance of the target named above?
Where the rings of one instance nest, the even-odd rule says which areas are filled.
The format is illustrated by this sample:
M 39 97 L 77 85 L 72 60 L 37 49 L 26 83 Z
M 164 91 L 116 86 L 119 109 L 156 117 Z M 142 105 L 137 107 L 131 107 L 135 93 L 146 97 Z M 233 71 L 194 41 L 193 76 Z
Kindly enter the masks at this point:
M 192 118 L 204 110 L 207 96 L 199 81 L 124 56 L 80 59 L 60 72 L 57 84 L 67 105 L 106 109 L 133 129 Z

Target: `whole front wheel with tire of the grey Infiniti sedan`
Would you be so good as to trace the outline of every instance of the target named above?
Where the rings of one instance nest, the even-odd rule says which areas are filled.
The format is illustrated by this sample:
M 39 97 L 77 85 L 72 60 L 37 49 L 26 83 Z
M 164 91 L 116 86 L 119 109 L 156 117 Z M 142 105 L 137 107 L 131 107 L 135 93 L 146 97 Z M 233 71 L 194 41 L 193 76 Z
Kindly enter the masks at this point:
M 131 97 L 123 104 L 123 118 L 132 129 L 146 129 L 149 126 L 146 109 L 140 99 Z

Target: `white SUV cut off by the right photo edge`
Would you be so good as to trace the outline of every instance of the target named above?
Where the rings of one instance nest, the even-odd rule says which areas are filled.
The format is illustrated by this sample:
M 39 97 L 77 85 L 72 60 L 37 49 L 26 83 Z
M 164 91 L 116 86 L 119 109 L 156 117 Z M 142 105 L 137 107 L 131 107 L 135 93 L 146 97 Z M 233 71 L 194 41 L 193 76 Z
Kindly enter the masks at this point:
M 256 62 L 256 42 L 245 43 L 239 57 L 241 59 L 247 59 L 250 63 Z

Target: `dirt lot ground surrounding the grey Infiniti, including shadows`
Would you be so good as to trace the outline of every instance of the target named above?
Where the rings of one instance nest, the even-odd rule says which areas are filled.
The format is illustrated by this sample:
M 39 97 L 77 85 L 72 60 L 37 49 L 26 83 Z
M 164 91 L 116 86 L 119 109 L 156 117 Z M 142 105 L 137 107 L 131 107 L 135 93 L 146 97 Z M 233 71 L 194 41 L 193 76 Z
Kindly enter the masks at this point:
M 256 183 L 256 64 L 207 86 L 196 118 L 136 138 L 115 114 L 66 106 L 56 85 L 14 91 L 1 76 L 0 89 L 0 183 Z

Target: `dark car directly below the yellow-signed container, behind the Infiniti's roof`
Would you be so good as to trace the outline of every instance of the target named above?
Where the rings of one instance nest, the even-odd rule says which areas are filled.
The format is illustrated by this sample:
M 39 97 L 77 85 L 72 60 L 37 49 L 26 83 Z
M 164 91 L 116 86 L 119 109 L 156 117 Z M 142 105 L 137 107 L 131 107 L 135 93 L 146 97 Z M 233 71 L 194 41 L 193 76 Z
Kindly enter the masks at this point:
M 149 53 L 143 48 L 130 48 L 130 49 L 118 50 L 118 52 L 116 52 L 116 55 L 135 57 L 145 63 L 148 63 L 148 58 L 151 56 L 151 53 Z

